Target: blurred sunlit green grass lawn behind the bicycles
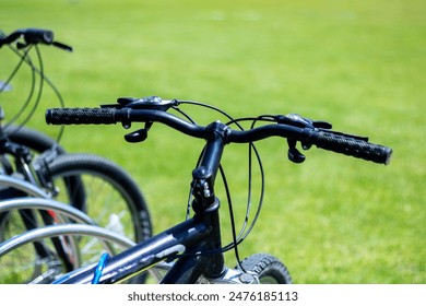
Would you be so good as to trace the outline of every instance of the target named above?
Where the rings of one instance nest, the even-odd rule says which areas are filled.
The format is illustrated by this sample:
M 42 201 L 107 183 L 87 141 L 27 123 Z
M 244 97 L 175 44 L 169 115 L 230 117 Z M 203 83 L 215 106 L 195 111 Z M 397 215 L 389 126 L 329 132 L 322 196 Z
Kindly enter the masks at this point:
M 296 283 L 425 283 L 425 13 L 421 0 L 2 0 L 0 28 L 50 28 L 74 47 L 42 49 L 69 107 L 120 96 L 196 99 L 235 117 L 298 113 L 391 146 L 387 167 L 313 149 L 294 165 L 285 141 L 260 143 L 267 197 L 240 254 L 277 256 Z M 17 58 L 0 52 L 4 80 Z M 0 96 L 7 119 L 28 92 L 29 74 L 19 74 Z M 57 134 L 44 122 L 45 109 L 57 106 L 46 87 L 28 126 Z M 216 119 L 186 110 L 200 122 Z M 202 142 L 156 126 L 147 141 L 129 144 L 126 132 L 68 127 L 61 143 L 129 170 L 158 232 L 185 216 Z M 239 221 L 246 158 L 239 145 L 225 152 Z

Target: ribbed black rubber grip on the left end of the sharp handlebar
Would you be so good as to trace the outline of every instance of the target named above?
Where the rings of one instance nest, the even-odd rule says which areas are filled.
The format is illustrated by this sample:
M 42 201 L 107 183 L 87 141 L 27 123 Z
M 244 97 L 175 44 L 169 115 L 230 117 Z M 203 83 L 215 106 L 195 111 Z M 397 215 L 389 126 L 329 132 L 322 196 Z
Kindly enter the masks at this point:
M 113 125 L 115 108 L 51 108 L 46 111 L 49 125 Z

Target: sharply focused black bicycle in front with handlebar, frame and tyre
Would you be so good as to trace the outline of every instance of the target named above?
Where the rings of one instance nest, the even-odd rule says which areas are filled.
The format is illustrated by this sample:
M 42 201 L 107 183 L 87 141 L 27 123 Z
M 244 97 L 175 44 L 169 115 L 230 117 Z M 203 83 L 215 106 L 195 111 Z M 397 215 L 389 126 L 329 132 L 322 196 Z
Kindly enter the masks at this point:
M 295 114 L 238 119 L 226 115 L 229 118 L 227 123 L 214 121 L 208 126 L 200 126 L 179 108 L 182 104 L 201 105 L 226 115 L 213 106 L 201 103 L 165 101 L 159 97 L 119 98 L 117 104 L 104 105 L 100 108 L 47 110 L 46 121 L 50 125 L 121 122 L 128 129 L 133 122 L 143 122 L 142 129 L 126 136 L 126 140 L 130 142 L 144 141 L 154 123 L 163 123 L 191 138 L 205 141 L 197 167 L 192 170 L 191 199 L 188 203 L 192 210 L 191 217 L 119 255 L 109 259 L 103 257 L 98 264 L 66 274 L 56 283 L 91 283 L 93 280 L 99 283 L 117 283 L 155 269 L 156 264 L 164 268 L 164 262 L 168 268 L 165 269 L 166 273 L 159 280 L 161 283 L 289 283 L 292 279 L 287 268 L 271 255 L 256 254 L 242 261 L 239 260 L 238 245 L 253 228 L 258 214 L 253 223 L 245 226 L 238 235 L 232 222 L 233 242 L 223 245 L 221 238 L 223 229 L 218 215 L 221 202 L 220 195 L 216 195 L 215 181 L 217 174 L 223 176 L 221 158 L 226 145 L 248 143 L 251 150 L 257 152 L 255 142 L 279 137 L 287 140 L 288 158 L 294 163 L 305 161 L 305 155 L 297 149 L 299 143 L 304 150 L 316 145 L 379 164 L 390 162 L 391 149 L 372 144 L 367 138 L 332 131 L 332 126 L 324 121 L 315 121 Z M 184 115 L 184 118 L 168 113 L 173 109 Z M 248 130 L 240 126 L 244 121 L 251 123 Z M 232 128 L 233 125 L 238 128 Z M 258 160 L 260 161 L 260 157 Z M 227 186 L 225 178 L 224 181 Z M 230 207 L 229 195 L 226 198 Z M 237 258 L 236 266 L 230 266 L 226 264 L 224 258 L 224 252 L 230 249 L 234 249 Z

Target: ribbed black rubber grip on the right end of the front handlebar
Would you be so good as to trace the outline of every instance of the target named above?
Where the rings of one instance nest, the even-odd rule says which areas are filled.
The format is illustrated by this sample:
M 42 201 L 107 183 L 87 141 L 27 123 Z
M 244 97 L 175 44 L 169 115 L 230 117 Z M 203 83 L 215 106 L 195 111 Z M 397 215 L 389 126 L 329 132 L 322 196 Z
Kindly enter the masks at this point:
M 318 148 L 378 164 L 388 165 L 392 155 L 392 149 L 390 148 L 326 131 L 316 132 L 311 136 L 310 141 Z

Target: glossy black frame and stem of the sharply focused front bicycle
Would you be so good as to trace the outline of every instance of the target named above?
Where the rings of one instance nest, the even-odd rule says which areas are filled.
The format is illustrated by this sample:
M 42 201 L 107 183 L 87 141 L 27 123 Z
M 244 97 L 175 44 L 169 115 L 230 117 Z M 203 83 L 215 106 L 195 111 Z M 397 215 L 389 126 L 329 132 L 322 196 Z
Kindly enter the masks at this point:
M 221 251 L 220 201 L 214 195 L 226 130 L 220 122 L 208 127 L 200 165 L 192 172 L 193 217 L 111 257 L 103 270 L 100 283 L 122 282 L 176 258 L 162 283 L 194 283 L 200 275 L 215 279 L 226 273 Z M 95 269 L 94 266 L 83 268 L 55 283 L 91 283 Z

